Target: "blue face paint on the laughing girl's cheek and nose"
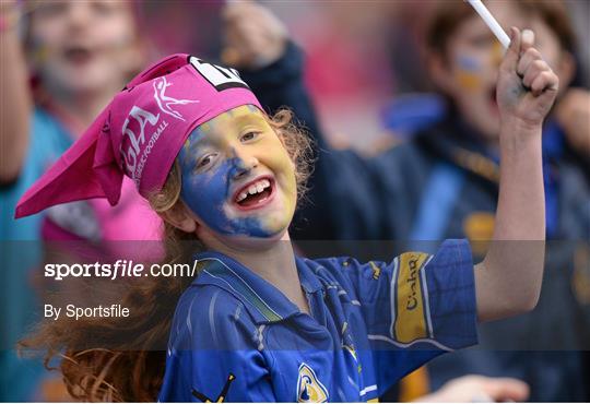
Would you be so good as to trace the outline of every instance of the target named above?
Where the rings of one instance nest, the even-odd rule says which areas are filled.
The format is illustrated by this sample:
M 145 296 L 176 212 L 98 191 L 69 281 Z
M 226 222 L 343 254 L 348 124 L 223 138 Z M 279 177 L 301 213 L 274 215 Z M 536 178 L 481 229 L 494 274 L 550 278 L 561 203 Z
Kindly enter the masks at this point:
M 257 217 L 239 217 L 231 194 L 232 178 L 244 170 L 244 162 L 238 157 L 227 158 L 222 151 L 221 157 L 213 166 L 202 173 L 197 170 L 199 148 L 205 143 L 208 133 L 197 128 L 185 147 L 180 150 L 179 159 L 182 173 L 180 197 L 187 206 L 211 229 L 223 235 L 243 235 L 250 237 L 269 237 L 272 234 L 264 229 Z

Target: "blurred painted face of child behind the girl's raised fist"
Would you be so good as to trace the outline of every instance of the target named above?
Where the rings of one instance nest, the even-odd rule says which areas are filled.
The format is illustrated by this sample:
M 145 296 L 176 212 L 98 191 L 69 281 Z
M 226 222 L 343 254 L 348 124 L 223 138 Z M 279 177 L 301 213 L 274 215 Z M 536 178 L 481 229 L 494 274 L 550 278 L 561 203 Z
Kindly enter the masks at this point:
M 569 81 L 568 68 L 564 66 L 567 52 L 560 49 L 557 34 L 540 15 L 526 15 L 517 3 L 511 2 L 488 1 L 486 5 L 506 32 L 510 26 L 532 29 L 535 48 L 543 59 L 559 75 L 562 84 Z M 455 102 L 462 119 L 493 142 L 497 141 L 500 127 L 496 83 L 503 58 L 504 49 L 499 41 L 473 13 L 449 36 L 439 63 L 442 69 L 434 75 L 438 86 Z

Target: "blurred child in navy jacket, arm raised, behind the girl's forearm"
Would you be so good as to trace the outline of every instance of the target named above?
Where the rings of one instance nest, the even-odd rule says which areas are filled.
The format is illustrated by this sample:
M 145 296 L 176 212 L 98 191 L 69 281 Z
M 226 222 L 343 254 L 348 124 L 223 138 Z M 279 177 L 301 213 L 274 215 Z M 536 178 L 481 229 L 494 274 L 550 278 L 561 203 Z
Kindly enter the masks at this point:
M 590 235 L 590 176 L 583 142 L 573 139 L 588 135 L 589 109 L 588 92 L 568 88 L 576 68 L 574 34 L 559 2 L 487 4 L 504 26 L 532 28 L 545 60 L 560 78 L 560 100 L 545 124 L 543 154 L 547 238 L 566 242 L 547 246 L 539 307 L 526 317 L 486 325 L 485 350 L 439 359 L 440 366 L 430 368 L 429 384 L 437 389 L 465 373 L 512 376 L 530 384 L 532 401 L 588 401 L 588 357 L 576 349 L 590 341 L 590 260 L 583 252 Z M 248 17 L 245 13 L 226 13 L 227 47 L 239 55 L 235 64 L 266 107 L 291 106 L 320 147 L 309 182 L 310 202 L 298 212 L 294 238 L 412 243 L 467 237 L 482 241 L 473 253 L 483 256 L 498 192 L 499 121 L 493 83 L 503 50 L 469 4 L 441 2 L 428 35 L 430 75 L 451 107 L 410 142 L 370 161 L 352 151 L 331 150 L 302 83 L 300 52 L 276 22 L 262 23 L 268 12 L 252 11 Z M 338 74 L 338 66 L 333 70 Z M 568 102 L 571 94 L 577 102 Z M 576 123 L 563 121 L 568 114 L 577 117 Z M 338 203 L 341 198 L 345 206 Z M 317 206 L 331 209 L 320 212 Z

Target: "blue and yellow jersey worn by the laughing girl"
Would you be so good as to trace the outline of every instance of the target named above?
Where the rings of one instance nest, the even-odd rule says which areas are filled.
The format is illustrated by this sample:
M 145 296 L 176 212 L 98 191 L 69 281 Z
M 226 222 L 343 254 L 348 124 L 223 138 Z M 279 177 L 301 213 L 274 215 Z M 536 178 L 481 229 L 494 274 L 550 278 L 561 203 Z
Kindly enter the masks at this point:
M 476 342 L 467 241 L 391 263 L 297 258 L 310 313 L 215 252 L 181 296 L 160 401 L 368 402 Z

